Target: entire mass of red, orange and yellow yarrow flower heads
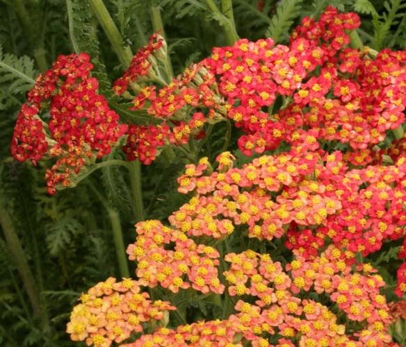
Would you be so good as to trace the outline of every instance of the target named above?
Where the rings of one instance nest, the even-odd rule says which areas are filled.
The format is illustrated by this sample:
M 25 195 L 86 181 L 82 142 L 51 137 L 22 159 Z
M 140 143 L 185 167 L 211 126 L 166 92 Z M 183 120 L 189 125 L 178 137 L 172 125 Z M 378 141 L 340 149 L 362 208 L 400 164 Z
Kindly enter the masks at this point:
M 161 153 L 187 161 L 177 178 L 187 202 L 168 221 L 136 223 L 127 248 L 136 279 L 108 278 L 82 294 L 67 324 L 73 341 L 399 346 L 391 330 L 405 319 L 406 52 L 352 46 L 359 25 L 329 6 L 304 17 L 288 45 L 236 40 L 174 78 L 156 33 L 113 84 L 151 124 L 120 123 L 86 53 L 60 56 L 38 78 L 11 151 L 51 160 L 50 194 L 113 148 L 145 165 Z M 220 124 L 222 151 L 200 158 Z M 252 157 L 245 164 L 227 151 L 232 132 L 238 156 Z M 394 243 L 403 263 L 386 288 L 373 255 Z M 387 291 L 399 300 L 388 305 Z M 186 303 L 217 310 L 195 321 Z

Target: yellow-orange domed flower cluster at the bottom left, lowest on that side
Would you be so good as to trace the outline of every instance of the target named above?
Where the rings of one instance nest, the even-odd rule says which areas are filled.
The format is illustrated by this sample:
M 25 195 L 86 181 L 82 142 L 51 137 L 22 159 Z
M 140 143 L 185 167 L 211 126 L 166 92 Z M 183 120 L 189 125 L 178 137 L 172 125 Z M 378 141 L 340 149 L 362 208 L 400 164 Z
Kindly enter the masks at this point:
M 140 284 L 129 278 L 116 282 L 108 278 L 82 294 L 67 323 L 73 341 L 86 341 L 88 346 L 108 347 L 128 339 L 133 332 L 143 332 L 143 325 L 163 321 L 175 310 L 166 301 L 151 301 Z M 166 320 L 166 322 L 165 322 Z

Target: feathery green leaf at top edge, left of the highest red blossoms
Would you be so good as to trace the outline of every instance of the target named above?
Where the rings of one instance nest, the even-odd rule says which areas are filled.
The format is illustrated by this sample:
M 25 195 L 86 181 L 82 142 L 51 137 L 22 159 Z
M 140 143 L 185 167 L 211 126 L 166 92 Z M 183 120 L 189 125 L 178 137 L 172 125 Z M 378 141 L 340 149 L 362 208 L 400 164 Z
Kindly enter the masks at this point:
M 300 15 L 302 2 L 303 0 L 282 0 L 275 15 L 270 19 L 266 36 L 272 37 L 275 42 L 286 37 L 294 20 Z

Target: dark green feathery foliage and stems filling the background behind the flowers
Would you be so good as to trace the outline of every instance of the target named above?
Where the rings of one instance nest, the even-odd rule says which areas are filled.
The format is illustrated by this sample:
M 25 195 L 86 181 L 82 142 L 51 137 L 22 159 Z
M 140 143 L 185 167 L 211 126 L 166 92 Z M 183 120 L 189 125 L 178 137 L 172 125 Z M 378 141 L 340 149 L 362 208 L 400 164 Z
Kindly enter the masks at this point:
M 209 2 L 216 3 L 104 1 L 133 52 L 154 32 L 151 13 L 161 9 L 175 74 L 208 56 L 213 46 L 227 44 L 222 34 L 227 18 L 212 12 Z M 373 49 L 405 46 L 406 1 L 401 0 L 234 0 L 237 32 L 250 40 L 270 36 L 283 43 L 302 17 L 318 15 L 328 4 L 358 12 L 363 19 L 359 35 Z M 0 0 L 0 346 L 72 346 L 65 324 L 81 291 L 120 276 L 108 212 L 120 214 L 124 243 L 134 239 L 134 206 L 124 168 L 105 167 L 77 187 L 48 196 L 44 167 L 10 158 L 10 138 L 26 92 L 59 54 L 73 51 L 90 53 L 101 92 L 115 103 L 109 88 L 123 69 L 87 0 Z M 125 119 L 124 105 L 117 103 L 115 109 Z M 213 158 L 225 131 L 218 124 L 200 155 Z M 143 167 L 147 219 L 165 220 L 184 202 L 175 185 L 182 164 L 168 166 L 158 159 Z M 395 281 L 389 263 L 396 251 L 384 249 L 373 257 L 389 285 Z M 199 310 L 208 309 L 195 307 Z

